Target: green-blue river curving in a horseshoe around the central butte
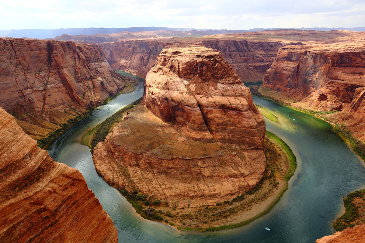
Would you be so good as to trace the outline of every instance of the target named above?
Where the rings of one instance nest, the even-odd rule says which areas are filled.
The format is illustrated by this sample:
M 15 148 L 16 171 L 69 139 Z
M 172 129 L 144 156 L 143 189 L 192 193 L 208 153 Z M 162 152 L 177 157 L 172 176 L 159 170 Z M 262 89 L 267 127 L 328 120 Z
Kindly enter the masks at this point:
M 94 110 L 90 117 L 66 130 L 48 148 L 55 161 L 82 173 L 88 187 L 113 219 L 119 242 L 314 243 L 335 232 L 331 223 L 343 212 L 342 197 L 364 188 L 363 161 L 329 124 L 267 99 L 253 97 L 254 103 L 278 117 L 278 123 L 266 119 L 266 129 L 291 147 L 298 163 L 288 190 L 274 208 L 246 226 L 216 232 L 183 232 L 145 220 L 96 173 L 89 148 L 81 145 L 81 137 L 87 130 L 142 97 L 144 81 L 130 77 L 139 82 L 134 92 L 119 95 Z M 266 231 L 265 227 L 271 230 Z

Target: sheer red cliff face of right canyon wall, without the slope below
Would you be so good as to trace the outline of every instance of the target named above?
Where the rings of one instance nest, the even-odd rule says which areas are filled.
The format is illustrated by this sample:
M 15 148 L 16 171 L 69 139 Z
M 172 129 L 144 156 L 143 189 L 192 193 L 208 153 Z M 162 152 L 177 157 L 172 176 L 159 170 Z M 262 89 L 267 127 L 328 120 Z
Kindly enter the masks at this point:
M 342 110 L 352 101 L 355 90 L 365 86 L 363 48 L 283 47 L 266 71 L 262 86 L 294 96 L 304 95 L 301 102 L 314 109 Z

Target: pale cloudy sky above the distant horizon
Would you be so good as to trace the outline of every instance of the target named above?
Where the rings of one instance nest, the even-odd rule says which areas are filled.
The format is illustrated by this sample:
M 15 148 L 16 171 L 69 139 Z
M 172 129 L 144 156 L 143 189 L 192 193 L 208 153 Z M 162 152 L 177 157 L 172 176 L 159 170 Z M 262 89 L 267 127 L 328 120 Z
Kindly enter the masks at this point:
M 365 27 L 364 0 L 0 0 L 0 30 Z

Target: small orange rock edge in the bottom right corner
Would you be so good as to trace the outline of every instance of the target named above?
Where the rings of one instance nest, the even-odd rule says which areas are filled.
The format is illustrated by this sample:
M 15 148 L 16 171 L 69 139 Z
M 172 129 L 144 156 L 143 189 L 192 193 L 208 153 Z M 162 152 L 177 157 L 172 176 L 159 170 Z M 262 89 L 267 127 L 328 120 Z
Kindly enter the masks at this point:
M 336 232 L 334 235 L 323 236 L 316 240 L 316 243 L 363 243 L 365 242 L 364 230 L 365 224 L 357 225 Z

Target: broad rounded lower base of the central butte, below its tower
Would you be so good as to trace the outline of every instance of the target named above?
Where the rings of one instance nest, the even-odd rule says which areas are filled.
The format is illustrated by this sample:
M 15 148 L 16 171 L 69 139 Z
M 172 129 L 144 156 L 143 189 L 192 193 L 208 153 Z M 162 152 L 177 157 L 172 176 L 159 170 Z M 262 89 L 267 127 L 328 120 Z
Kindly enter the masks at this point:
M 135 189 L 171 207 L 212 205 L 243 194 L 265 172 L 263 149 L 204 143 L 184 137 L 181 125 L 134 108 L 94 148 L 97 172 L 116 188 Z

